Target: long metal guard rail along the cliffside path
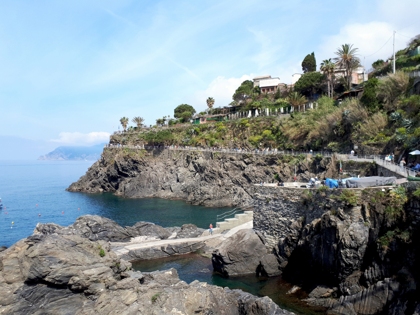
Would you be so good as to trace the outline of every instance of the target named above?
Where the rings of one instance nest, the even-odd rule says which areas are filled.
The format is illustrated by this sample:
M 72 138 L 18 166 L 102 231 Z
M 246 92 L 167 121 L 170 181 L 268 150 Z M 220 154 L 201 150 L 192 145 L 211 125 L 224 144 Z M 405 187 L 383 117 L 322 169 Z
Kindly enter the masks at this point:
M 191 146 L 175 146 L 175 145 L 158 145 L 158 146 L 144 146 L 144 145 L 129 145 L 129 144 L 105 144 L 105 148 L 115 148 L 115 149 L 157 149 L 157 150 L 185 150 L 185 151 L 204 151 L 204 152 L 224 152 L 224 153 L 236 153 L 236 154 L 261 154 L 261 155 L 322 155 L 323 157 L 333 157 L 335 156 L 337 160 L 341 161 L 355 161 L 355 162 L 375 162 L 379 166 L 382 166 L 388 169 L 391 172 L 399 174 L 401 176 L 416 176 L 417 171 L 401 166 L 394 162 L 388 162 L 384 160 L 381 155 L 352 155 L 350 153 L 337 153 L 337 152 L 323 152 L 323 151 L 284 151 L 277 149 L 244 149 L 244 148 L 235 148 L 235 149 L 222 149 L 215 147 L 191 147 Z

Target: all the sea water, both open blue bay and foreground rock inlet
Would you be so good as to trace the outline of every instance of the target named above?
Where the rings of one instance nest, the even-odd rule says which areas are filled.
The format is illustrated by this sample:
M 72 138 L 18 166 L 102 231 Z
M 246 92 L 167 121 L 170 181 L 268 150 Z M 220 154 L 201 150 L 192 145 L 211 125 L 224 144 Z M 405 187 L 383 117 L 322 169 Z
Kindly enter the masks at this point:
M 10 247 L 31 235 L 38 223 L 68 226 L 81 215 L 101 215 L 121 226 L 139 221 L 163 227 L 192 223 L 200 228 L 215 226 L 217 215 L 230 207 L 191 205 L 183 200 L 162 198 L 127 199 L 112 192 L 88 194 L 66 192 L 94 161 L 0 160 L 0 246 Z M 268 295 L 280 307 L 302 315 L 323 315 L 323 307 L 303 302 L 307 292 L 288 294 L 292 285 L 281 277 L 255 275 L 223 277 L 213 271 L 211 260 L 192 252 L 184 255 L 133 262 L 142 272 L 176 268 L 181 280 L 195 279 L 230 289 L 242 289 L 257 296 Z

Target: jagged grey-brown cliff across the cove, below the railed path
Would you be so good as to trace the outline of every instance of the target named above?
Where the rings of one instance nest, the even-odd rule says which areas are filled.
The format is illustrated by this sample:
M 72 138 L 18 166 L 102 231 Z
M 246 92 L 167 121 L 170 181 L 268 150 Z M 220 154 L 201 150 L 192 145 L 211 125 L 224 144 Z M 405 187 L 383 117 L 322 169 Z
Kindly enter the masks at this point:
M 303 182 L 315 175 L 335 176 L 338 171 L 331 158 L 299 161 L 279 155 L 105 148 L 101 159 L 67 190 L 237 206 L 252 200 L 253 184 L 276 181 L 275 175 L 294 181 L 295 165 L 297 181 Z

